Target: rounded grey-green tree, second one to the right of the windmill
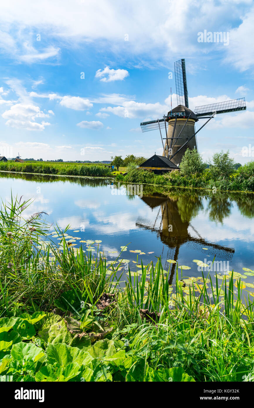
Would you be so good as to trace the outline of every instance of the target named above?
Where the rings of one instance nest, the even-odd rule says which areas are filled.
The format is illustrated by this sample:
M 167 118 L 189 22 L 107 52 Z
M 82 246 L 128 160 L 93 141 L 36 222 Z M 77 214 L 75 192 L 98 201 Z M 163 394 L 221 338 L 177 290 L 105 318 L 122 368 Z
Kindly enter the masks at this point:
M 209 169 L 212 178 L 216 180 L 218 177 L 228 177 L 234 172 L 234 159 L 229 157 L 229 150 L 226 153 L 215 153 L 212 156 L 212 162 L 209 161 Z

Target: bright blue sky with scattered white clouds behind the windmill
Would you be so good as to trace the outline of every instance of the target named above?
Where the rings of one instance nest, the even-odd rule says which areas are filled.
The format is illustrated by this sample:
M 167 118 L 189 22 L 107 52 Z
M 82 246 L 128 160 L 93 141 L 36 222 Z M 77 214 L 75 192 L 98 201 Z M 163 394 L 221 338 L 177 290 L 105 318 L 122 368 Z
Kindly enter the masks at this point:
M 161 155 L 159 131 L 140 122 L 167 114 L 171 91 L 177 106 L 174 62 L 185 58 L 190 109 L 242 97 L 247 106 L 210 120 L 199 153 L 253 160 L 253 22 L 252 0 L 2 2 L 0 155 Z

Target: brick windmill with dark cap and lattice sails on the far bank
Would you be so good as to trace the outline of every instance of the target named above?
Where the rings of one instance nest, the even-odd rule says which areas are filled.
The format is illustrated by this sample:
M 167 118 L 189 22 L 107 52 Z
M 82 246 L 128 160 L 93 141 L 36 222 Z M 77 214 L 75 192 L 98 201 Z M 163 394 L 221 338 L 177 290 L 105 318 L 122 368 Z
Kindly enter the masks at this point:
M 197 133 L 209 120 L 214 118 L 215 114 L 245 111 L 246 105 L 245 98 L 239 98 L 210 105 L 196 106 L 195 112 L 191 111 L 188 102 L 185 60 L 176 61 L 174 67 L 178 106 L 172 109 L 171 103 L 171 111 L 168 112 L 167 116 L 164 115 L 162 119 L 142 122 L 140 126 L 142 132 L 159 129 L 163 146 L 162 156 L 179 165 L 186 149 L 197 149 Z M 195 123 L 199 118 L 207 119 L 207 121 L 196 131 Z M 163 127 L 166 131 L 166 137 L 162 137 L 161 130 Z

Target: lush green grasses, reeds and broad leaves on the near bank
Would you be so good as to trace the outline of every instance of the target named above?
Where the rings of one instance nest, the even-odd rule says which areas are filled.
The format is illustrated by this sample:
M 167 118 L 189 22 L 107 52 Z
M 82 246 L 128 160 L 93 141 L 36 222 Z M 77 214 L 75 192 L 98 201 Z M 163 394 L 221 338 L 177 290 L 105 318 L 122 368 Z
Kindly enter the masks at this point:
M 173 287 L 160 259 L 125 271 L 123 254 L 110 263 L 103 253 L 93 257 L 65 231 L 56 229 L 56 245 L 42 214 L 23 219 L 28 204 L 13 200 L 1 210 L 0 375 L 167 382 L 253 375 L 254 304 L 248 295 L 242 303 L 241 278 L 232 272 L 213 284 L 208 274 L 183 284 L 176 268 Z

